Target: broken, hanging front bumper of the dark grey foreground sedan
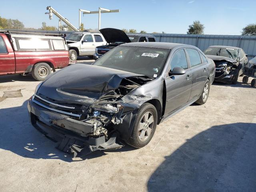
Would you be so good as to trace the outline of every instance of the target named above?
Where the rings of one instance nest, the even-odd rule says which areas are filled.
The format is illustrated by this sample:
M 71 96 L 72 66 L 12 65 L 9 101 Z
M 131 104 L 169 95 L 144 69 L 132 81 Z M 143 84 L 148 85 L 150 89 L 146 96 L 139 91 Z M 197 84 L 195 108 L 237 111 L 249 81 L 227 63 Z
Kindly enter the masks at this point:
M 57 148 L 76 156 L 84 156 L 95 150 L 114 150 L 124 146 L 118 142 L 118 132 L 105 136 L 88 137 L 97 122 L 82 122 L 65 114 L 52 112 L 33 101 L 28 101 L 28 112 L 32 125 L 50 140 L 57 142 Z

